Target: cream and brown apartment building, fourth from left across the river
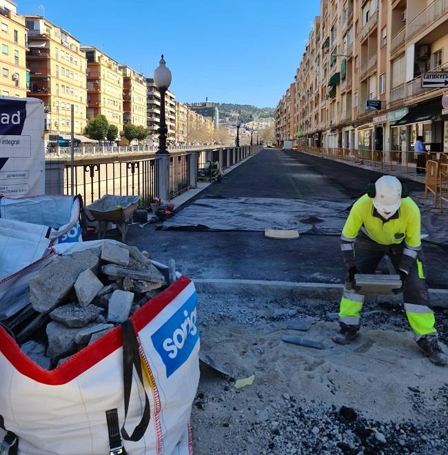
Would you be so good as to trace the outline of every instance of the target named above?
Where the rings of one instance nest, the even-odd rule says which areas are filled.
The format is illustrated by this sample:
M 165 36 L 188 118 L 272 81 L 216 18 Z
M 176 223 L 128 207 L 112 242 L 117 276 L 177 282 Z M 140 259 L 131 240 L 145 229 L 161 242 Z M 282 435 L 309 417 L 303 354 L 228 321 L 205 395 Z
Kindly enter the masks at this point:
M 123 123 L 146 128 L 146 79 L 126 65 L 119 65 L 123 74 Z

